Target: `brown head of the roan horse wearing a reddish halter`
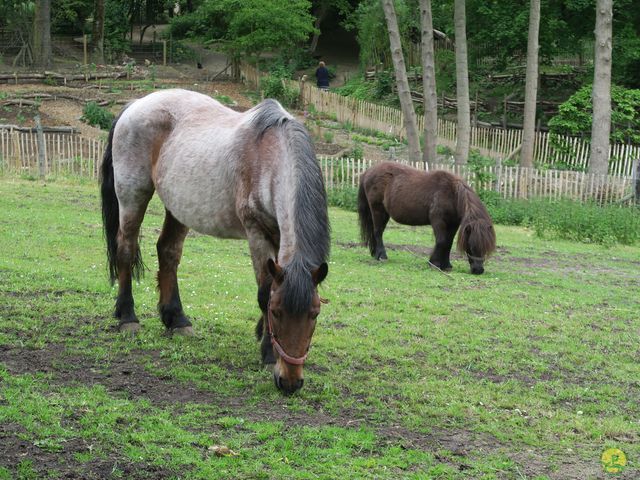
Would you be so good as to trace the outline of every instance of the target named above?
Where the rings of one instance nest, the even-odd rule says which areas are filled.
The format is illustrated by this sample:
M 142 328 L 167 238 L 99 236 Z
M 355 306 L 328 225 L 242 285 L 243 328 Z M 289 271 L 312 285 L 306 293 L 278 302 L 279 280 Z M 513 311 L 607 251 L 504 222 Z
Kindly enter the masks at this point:
M 322 263 L 311 271 L 311 302 L 301 308 L 299 305 L 298 308 L 287 305 L 287 273 L 271 259 L 267 262 L 267 269 L 273 277 L 266 319 L 267 332 L 276 358 L 273 380 L 276 387 L 284 393 L 292 394 L 304 383 L 303 365 L 322 303 L 317 287 L 327 276 L 328 266 Z

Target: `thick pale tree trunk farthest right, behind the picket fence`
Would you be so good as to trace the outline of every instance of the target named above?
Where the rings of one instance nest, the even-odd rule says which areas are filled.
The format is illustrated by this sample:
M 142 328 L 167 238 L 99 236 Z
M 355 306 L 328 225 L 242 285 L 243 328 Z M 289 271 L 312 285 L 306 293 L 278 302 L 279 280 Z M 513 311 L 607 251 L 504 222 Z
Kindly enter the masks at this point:
M 596 1 L 596 41 L 593 62 L 593 123 L 589 173 L 604 175 L 609 167 L 611 132 L 611 35 L 613 1 Z

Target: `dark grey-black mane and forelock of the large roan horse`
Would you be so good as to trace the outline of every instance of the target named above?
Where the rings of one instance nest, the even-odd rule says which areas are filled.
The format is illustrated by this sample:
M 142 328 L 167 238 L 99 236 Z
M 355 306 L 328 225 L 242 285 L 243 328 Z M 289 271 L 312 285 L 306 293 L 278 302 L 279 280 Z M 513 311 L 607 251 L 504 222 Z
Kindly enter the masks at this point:
M 322 172 L 313 143 L 304 125 L 289 115 L 275 100 L 268 99 L 255 107 L 252 126 L 261 139 L 267 130 L 278 128 L 287 141 L 287 150 L 295 159 L 298 185 L 293 215 L 296 252 L 284 266 L 284 307 L 291 314 L 309 309 L 313 282 L 310 271 L 326 262 L 330 249 L 327 197 Z

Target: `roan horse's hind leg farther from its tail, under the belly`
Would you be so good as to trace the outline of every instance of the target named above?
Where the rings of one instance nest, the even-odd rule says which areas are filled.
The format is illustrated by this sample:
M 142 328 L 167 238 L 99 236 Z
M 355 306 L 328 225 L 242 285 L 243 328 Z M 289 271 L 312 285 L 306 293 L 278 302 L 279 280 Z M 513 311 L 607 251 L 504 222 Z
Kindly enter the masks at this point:
M 182 309 L 178 290 L 178 265 L 182 257 L 182 246 L 189 229 L 175 219 L 169 210 L 165 210 L 162 233 L 158 238 L 158 290 L 160 301 L 158 311 L 162 323 L 172 333 L 191 335 L 191 322 Z

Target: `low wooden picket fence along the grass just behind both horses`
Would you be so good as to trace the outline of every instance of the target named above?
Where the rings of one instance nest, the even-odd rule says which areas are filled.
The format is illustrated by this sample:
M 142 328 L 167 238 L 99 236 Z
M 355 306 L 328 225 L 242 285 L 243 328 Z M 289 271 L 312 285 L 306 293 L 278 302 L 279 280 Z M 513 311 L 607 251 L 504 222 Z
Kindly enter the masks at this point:
M 105 142 L 80 135 L 44 134 L 47 176 L 78 176 L 97 179 Z M 327 189 L 356 187 L 370 160 L 319 157 Z M 422 162 L 412 164 L 424 169 Z M 634 178 L 619 175 L 591 175 L 567 170 L 537 170 L 495 165 L 473 170 L 453 164 L 431 165 L 464 177 L 475 189 L 494 190 L 503 198 L 571 198 L 578 201 L 617 202 L 631 197 Z M 0 173 L 40 174 L 36 134 L 0 130 Z

